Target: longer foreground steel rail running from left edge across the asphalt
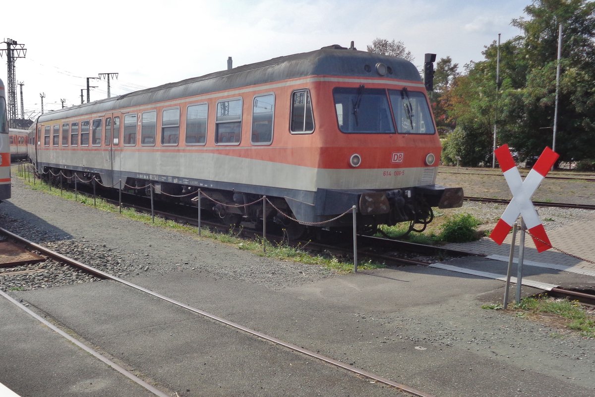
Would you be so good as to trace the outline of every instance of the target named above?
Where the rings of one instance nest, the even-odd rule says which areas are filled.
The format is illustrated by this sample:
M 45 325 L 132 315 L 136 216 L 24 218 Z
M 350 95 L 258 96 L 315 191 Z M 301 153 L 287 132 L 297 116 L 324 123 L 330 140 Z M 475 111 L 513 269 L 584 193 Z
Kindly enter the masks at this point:
M 192 311 L 193 313 L 201 314 L 201 316 L 208 317 L 209 319 L 215 320 L 217 322 L 226 324 L 227 326 L 230 326 L 230 327 L 233 327 L 235 329 L 241 330 L 243 332 L 249 333 L 250 335 L 256 336 L 257 338 L 263 339 L 263 340 L 268 341 L 268 342 L 272 342 L 274 344 L 283 346 L 285 348 L 288 348 L 290 350 L 293 350 L 293 351 L 302 353 L 304 355 L 308 355 L 309 357 L 316 358 L 317 360 L 323 361 L 323 362 L 325 362 L 327 364 L 331 364 L 331 365 L 336 366 L 336 367 L 339 367 L 339 368 L 343 368 L 344 370 L 347 370 L 347 371 L 350 371 L 352 373 L 355 373 L 355 374 L 358 374 L 358 375 L 367 377 L 368 379 L 375 380 L 376 382 L 383 383 L 384 385 L 396 387 L 397 389 L 403 390 L 404 392 L 410 393 L 412 395 L 415 395 L 415 396 L 418 396 L 418 397 L 434 397 L 434 395 L 431 395 L 431 394 L 422 392 L 421 390 L 414 389 L 413 387 L 409 387 L 409 386 L 403 385 L 402 383 L 394 382 L 393 380 L 390 380 L 390 379 L 387 379 L 385 377 L 376 375 L 376 374 L 371 373 L 371 372 L 366 371 L 366 370 L 355 368 L 353 366 L 350 366 L 349 364 L 345 364 L 345 363 L 342 363 L 339 360 L 335 360 L 334 358 L 326 357 L 326 356 L 321 355 L 321 354 L 318 354 L 318 353 L 316 353 L 314 351 L 311 351 L 311 350 L 308 350 L 308 349 L 304 349 L 304 348 L 302 348 L 300 346 L 297 346 L 295 344 L 292 344 L 291 342 L 282 341 L 281 339 L 275 338 L 274 336 L 270 336 L 270 335 L 267 335 L 265 333 L 262 333 L 262 332 L 259 332 L 259 331 L 250 329 L 250 328 L 245 327 L 245 326 L 243 326 L 241 324 L 231 322 L 230 320 L 226 320 L 223 317 L 216 316 L 215 314 L 211 314 L 211 313 L 208 313 L 206 311 L 203 311 L 203 310 L 194 308 L 194 307 L 189 306 L 187 304 L 184 304 L 184 303 L 181 303 L 179 301 L 176 301 L 176 300 L 174 300 L 172 298 L 165 297 L 165 295 L 161 295 L 158 292 L 151 291 L 150 289 L 146 289 L 146 288 L 144 288 L 142 286 L 136 285 L 134 283 L 131 283 L 129 281 L 126 281 L 124 279 L 121 279 L 121 278 L 119 278 L 117 276 L 110 275 L 109 273 L 106 273 L 106 272 L 103 272 L 102 270 L 96 269 L 95 267 L 88 266 L 88 265 L 86 265 L 84 263 L 81 263 L 81 262 L 79 262 L 77 260 L 71 259 L 71 258 L 69 258 L 67 256 L 64 256 L 64 255 L 60 254 L 60 253 L 57 253 L 57 252 L 52 251 L 52 250 L 49 250 L 48 248 L 45 248 L 42 245 L 39 245 L 39 244 L 36 244 L 35 242 L 26 240 L 25 238 L 20 237 L 18 235 L 15 235 L 12 232 L 7 231 L 7 230 L 5 230 L 3 228 L 0 228 L 0 232 L 6 234 L 8 236 L 10 236 L 11 238 L 13 238 L 15 240 L 21 241 L 24 244 L 30 245 L 30 247 L 33 247 L 36 250 L 39 250 L 40 252 L 42 252 L 43 254 L 46 254 L 46 255 L 48 255 L 48 256 L 56 259 L 56 260 L 64 261 L 65 263 L 72 264 L 73 266 L 79 267 L 80 269 L 86 270 L 87 272 L 92 273 L 93 275 L 99 276 L 101 278 L 105 278 L 105 279 L 109 279 L 109 280 L 112 280 L 112 281 L 116 281 L 116 282 L 122 283 L 122 284 L 124 284 L 126 286 L 129 286 L 131 288 L 137 289 L 138 291 L 145 292 L 146 294 L 152 295 L 152 296 L 154 296 L 156 298 L 159 298 L 161 300 L 164 300 L 164 301 L 166 301 L 168 303 L 177 305 L 177 306 L 179 306 L 181 308 L 185 308 L 186 310 Z

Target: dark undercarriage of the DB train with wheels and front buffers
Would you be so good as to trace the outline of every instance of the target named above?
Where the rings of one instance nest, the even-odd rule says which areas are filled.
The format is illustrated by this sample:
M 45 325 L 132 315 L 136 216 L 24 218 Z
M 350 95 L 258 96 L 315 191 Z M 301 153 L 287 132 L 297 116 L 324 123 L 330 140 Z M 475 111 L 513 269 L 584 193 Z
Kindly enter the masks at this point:
M 104 184 L 100 173 L 73 171 L 71 169 L 45 168 L 44 177 L 54 184 L 93 185 L 100 188 L 120 189 L 120 181 L 115 185 Z M 381 225 L 393 226 L 404 223 L 405 234 L 422 232 L 433 220 L 432 207 L 451 208 L 462 205 L 461 188 L 444 188 L 438 185 L 414 187 L 389 191 L 324 191 L 329 203 L 321 206 L 309 206 L 314 212 L 329 212 L 317 216 L 315 222 L 297 221 L 296 213 L 302 215 L 303 209 L 297 208 L 286 197 L 262 196 L 234 190 L 198 187 L 196 185 L 173 182 L 152 181 L 144 178 L 127 177 L 121 182 L 123 193 L 150 197 L 166 203 L 200 205 L 208 210 L 221 223 L 234 227 L 246 225 L 258 227 L 262 222 L 274 222 L 287 238 L 295 240 L 305 235 L 312 235 L 320 229 L 351 229 L 353 227 L 352 207 L 356 207 L 358 232 L 373 235 L 380 231 Z M 200 190 L 200 195 L 199 195 Z M 200 200 L 198 197 L 200 196 Z M 322 201 L 324 202 L 324 201 Z M 200 203 L 200 204 L 199 204 Z M 301 203 L 303 204 L 303 203 Z M 339 216 L 343 213 L 343 216 Z

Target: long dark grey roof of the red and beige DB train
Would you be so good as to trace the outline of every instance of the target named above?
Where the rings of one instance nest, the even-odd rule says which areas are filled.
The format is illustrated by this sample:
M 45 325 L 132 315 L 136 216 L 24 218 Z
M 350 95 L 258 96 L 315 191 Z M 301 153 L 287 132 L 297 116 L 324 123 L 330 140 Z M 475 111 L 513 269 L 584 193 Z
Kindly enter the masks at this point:
M 376 71 L 378 63 L 386 65 L 389 70 L 388 73 L 383 75 L 383 78 L 421 81 L 417 68 L 406 59 L 333 45 L 316 51 L 280 56 L 268 61 L 243 65 L 201 77 L 187 78 L 176 83 L 163 84 L 162 86 L 121 96 L 60 109 L 39 116 L 37 122 L 139 106 L 146 103 L 179 99 L 291 78 L 314 75 L 374 77 L 378 76 Z

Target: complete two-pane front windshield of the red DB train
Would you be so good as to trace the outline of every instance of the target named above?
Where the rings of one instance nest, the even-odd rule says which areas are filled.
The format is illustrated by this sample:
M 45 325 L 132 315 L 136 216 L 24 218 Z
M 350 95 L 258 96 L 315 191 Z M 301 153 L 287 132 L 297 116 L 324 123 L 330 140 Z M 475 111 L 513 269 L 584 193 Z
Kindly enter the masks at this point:
M 347 134 L 434 134 L 428 102 L 422 92 L 354 88 L 333 90 L 337 123 Z M 392 109 L 392 112 L 391 112 Z M 394 115 L 394 121 L 393 121 Z M 396 129 L 395 129 L 396 125 Z

